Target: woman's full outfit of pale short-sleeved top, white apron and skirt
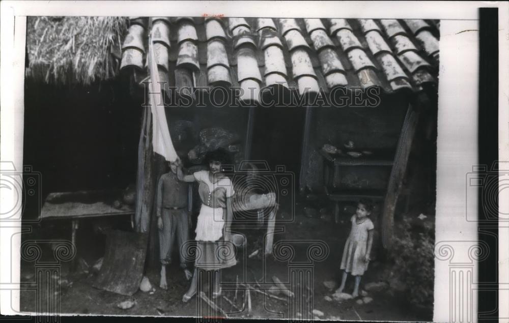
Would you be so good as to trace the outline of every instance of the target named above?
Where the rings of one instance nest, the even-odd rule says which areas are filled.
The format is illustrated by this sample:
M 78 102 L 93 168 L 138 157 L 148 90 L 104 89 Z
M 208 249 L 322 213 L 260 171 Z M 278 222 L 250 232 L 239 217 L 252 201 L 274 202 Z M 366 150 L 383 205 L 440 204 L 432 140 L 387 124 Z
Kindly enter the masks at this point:
M 193 173 L 199 182 L 198 193 L 202 201 L 196 222 L 196 258 L 194 266 L 204 270 L 217 270 L 236 265 L 235 247 L 224 241 L 224 221 L 226 217 L 226 198 L 235 194 L 229 178 L 212 183 L 209 171 Z

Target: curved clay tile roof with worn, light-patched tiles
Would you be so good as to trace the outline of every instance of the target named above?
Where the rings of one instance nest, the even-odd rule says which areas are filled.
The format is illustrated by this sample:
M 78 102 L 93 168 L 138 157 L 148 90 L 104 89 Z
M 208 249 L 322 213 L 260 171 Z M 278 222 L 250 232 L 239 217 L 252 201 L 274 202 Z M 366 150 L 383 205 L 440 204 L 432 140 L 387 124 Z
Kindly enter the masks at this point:
M 121 70 L 146 70 L 151 28 L 161 80 L 177 87 L 240 86 L 245 100 L 274 84 L 300 94 L 336 86 L 420 91 L 437 82 L 437 24 L 420 19 L 131 17 Z

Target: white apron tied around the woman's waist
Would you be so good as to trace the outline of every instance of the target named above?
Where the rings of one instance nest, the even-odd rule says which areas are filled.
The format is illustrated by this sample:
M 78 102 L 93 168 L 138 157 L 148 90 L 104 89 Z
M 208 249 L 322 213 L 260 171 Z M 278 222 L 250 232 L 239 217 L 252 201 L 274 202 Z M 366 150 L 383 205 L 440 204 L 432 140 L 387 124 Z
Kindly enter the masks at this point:
M 194 230 L 196 241 L 217 241 L 222 237 L 223 212 L 222 208 L 214 209 L 202 204 Z

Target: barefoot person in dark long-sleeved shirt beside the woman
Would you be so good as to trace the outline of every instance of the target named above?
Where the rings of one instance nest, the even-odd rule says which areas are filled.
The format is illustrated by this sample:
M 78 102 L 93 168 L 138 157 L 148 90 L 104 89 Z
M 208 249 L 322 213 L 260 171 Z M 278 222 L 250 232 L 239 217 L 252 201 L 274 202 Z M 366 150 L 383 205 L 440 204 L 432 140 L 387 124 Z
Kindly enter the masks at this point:
M 162 174 L 157 185 L 157 227 L 159 228 L 159 250 L 161 281 L 159 287 L 167 289 L 166 265 L 172 262 L 175 239 L 180 254 L 180 267 L 186 279 L 192 274 L 187 268 L 182 245 L 189 240 L 188 193 L 189 184 L 177 179 L 177 164 L 169 163 L 170 171 Z

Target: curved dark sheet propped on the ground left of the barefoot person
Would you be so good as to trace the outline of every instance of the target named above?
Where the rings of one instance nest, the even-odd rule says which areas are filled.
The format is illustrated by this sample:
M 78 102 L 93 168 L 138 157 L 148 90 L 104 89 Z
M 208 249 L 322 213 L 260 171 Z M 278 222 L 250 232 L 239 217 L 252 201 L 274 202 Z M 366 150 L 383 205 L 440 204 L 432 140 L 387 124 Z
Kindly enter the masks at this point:
M 93 286 L 121 295 L 133 295 L 143 278 L 148 235 L 109 230 L 101 270 Z

